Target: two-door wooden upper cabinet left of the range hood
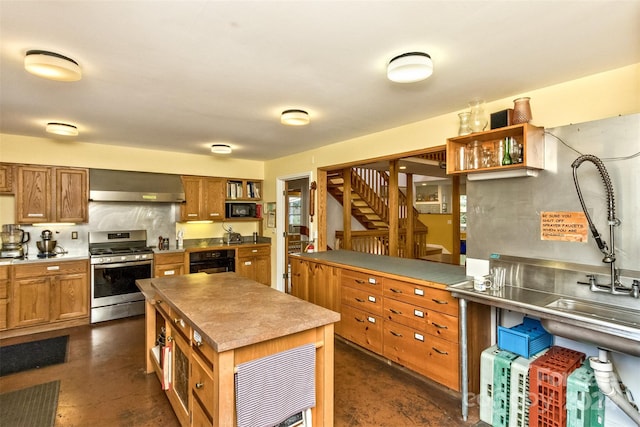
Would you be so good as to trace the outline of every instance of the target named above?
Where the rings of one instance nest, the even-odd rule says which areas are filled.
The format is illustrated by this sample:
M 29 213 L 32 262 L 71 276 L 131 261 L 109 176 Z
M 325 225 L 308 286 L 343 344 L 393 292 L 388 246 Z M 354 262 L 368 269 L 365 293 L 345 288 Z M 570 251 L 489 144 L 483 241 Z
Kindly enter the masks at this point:
M 87 169 L 18 166 L 16 194 L 18 223 L 89 220 Z

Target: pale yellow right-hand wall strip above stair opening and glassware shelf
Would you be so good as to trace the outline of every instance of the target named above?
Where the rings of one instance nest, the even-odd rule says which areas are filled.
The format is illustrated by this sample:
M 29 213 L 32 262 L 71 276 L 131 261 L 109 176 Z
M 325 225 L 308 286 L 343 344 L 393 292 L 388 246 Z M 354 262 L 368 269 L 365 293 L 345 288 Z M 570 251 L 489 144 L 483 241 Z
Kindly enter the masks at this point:
M 488 101 L 486 111 L 513 108 L 513 100 L 519 96 L 531 97 L 532 124 L 547 128 L 638 113 L 640 64 Z M 308 171 L 315 175 L 319 167 L 444 145 L 447 138 L 457 135 L 457 114 L 465 106 L 460 107 L 442 116 L 268 161 L 265 200 L 275 200 L 275 183 L 280 176 Z

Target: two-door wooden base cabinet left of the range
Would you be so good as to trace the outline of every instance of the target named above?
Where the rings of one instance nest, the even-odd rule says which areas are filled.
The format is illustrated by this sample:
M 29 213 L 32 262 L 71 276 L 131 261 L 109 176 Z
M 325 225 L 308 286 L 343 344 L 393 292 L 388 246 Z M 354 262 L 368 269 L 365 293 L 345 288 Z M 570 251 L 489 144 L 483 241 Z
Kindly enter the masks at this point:
M 46 325 L 89 317 L 88 261 L 13 266 L 8 327 Z

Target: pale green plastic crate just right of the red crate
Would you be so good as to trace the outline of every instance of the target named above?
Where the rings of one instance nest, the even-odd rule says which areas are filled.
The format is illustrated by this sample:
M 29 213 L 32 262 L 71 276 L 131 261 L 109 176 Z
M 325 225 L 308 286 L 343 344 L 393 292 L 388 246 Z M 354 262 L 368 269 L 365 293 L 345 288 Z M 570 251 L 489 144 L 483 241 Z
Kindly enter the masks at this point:
M 567 380 L 567 427 L 603 427 L 604 395 L 588 362 Z

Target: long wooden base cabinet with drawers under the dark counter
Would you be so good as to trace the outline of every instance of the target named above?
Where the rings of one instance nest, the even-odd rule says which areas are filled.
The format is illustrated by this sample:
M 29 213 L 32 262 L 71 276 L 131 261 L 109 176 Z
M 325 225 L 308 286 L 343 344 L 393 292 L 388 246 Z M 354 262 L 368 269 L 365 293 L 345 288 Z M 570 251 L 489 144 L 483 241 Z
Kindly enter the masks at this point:
M 326 269 L 333 269 L 333 282 L 326 275 L 317 279 Z M 310 302 L 317 301 L 320 289 L 337 284 L 332 309 L 341 313 L 341 320 L 336 334 L 461 390 L 459 305 L 444 285 L 298 257 L 292 257 L 291 272 L 292 293 Z M 468 307 L 469 390 L 478 392 L 480 354 L 490 345 L 490 310 L 477 304 Z

